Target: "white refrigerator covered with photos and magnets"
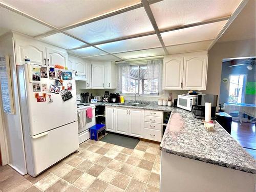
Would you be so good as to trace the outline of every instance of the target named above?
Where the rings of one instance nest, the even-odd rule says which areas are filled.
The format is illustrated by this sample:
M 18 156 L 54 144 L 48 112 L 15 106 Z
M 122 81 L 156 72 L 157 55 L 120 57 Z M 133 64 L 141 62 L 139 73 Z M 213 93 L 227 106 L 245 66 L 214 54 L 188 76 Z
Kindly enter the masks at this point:
M 62 86 L 56 86 L 56 79 L 50 79 L 53 70 L 56 79 L 60 71 L 69 75 L 68 80 L 61 81 L 72 98 L 62 99 L 58 93 Z M 60 70 L 58 74 L 57 70 Z M 69 70 L 26 64 L 17 66 L 17 74 L 27 173 L 35 177 L 79 148 L 75 74 Z M 50 87 L 53 92 L 57 87 L 56 93 L 50 92 Z

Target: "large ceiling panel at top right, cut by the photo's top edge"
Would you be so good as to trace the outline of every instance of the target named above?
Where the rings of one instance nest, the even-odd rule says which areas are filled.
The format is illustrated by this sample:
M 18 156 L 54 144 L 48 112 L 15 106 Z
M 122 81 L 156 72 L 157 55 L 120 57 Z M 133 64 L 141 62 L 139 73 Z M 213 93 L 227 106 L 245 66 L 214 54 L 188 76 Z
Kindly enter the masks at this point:
M 164 0 L 150 5 L 158 28 L 166 29 L 231 15 L 241 0 Z

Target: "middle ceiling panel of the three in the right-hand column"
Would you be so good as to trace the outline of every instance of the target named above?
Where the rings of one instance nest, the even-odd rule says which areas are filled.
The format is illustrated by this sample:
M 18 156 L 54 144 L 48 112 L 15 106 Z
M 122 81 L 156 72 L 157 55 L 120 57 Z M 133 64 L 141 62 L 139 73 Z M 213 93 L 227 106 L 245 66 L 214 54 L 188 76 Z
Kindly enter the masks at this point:
M 227 23 L 226 20 L 196 27 L 161 33 L 165 46 L 214 39 Z

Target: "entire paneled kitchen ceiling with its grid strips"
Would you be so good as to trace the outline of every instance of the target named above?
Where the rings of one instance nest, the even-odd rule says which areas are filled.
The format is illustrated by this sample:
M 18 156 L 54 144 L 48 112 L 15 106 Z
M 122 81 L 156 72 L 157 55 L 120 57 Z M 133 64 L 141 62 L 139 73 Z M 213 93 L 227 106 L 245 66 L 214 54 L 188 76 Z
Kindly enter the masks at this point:
M 207 50 L 243 1 L 0 0 L 0 35 L 6 29 L 39 35 L 102 61 Z

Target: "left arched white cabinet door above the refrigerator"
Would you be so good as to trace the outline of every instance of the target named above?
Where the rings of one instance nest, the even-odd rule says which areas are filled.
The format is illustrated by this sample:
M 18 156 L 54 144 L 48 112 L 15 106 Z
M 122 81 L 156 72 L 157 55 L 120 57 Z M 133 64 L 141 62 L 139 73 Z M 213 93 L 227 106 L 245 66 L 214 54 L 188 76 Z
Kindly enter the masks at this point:
M 25 63 L 25 57 L 33 65 L 46 66 L 45 46 L 30 40 L 15 39 L 17 65 Z

